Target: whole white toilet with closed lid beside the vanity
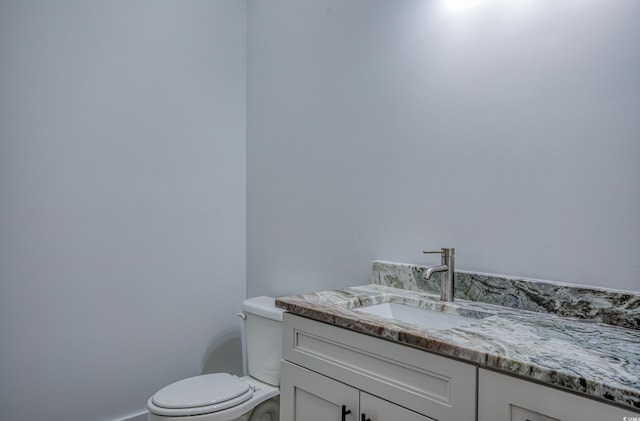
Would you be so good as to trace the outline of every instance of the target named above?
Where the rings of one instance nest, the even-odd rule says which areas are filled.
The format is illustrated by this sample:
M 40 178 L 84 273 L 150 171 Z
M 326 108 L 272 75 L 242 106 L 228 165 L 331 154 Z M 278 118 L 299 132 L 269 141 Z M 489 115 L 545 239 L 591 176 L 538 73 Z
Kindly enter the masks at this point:
M 242 303 L 249 375 L 203 374 L 172 383 L 147 401 L 149 421 L 278 421 L 282 313 L 275 299 Z

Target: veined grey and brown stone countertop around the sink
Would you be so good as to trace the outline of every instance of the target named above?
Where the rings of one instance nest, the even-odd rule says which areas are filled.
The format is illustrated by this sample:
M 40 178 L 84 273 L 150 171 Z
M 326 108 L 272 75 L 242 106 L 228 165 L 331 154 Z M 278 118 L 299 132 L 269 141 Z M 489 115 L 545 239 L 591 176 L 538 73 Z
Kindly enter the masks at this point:
M 408 268 L 416 272 L 415 266 Z M 443 303 L 437 295 L 408 288 L 406 282 L 397 282 L 397 278 L 393 282 L 395 287 L 384 285 L 377 269 L 380 268 L 374 262 L 374 284 L 278 298 L 276 305 L 355 332 L 547 383 L 635 411 L 640 409 L 640 330 L 626 327 L 628 323 L 614 326 L 597 318 L 594 321 L 565 317 L 459 298 L 453 303 Z M 495 282 L 492 279 L 492 287 Z M 631 295 L 631 301 L 637 303 L 638 296 Z M 471 319 L 463 326 L 434 329 L 357 310 L 384 302 L 437 309 Z M 625 303 L 626 307 L 633 307 Z

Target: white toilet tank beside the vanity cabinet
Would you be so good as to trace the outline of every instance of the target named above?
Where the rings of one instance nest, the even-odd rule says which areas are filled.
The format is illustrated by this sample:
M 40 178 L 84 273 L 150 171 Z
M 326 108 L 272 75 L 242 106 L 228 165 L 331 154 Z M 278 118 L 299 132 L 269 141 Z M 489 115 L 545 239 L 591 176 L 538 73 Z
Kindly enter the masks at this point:
M 275 298 L 255 297 L 242 303 L 249 375 L 273 386 L 280 385 L 282 313 Z

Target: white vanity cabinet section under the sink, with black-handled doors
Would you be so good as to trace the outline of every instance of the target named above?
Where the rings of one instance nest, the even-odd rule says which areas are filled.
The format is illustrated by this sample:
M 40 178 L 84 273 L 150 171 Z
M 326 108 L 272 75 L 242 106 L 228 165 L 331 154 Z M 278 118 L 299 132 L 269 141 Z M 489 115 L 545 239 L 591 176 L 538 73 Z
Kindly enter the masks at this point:
M 282 356 L 280 421 L 476 420 L 472 364 L 290 313 Z

